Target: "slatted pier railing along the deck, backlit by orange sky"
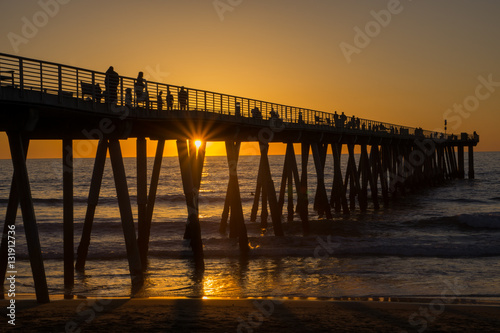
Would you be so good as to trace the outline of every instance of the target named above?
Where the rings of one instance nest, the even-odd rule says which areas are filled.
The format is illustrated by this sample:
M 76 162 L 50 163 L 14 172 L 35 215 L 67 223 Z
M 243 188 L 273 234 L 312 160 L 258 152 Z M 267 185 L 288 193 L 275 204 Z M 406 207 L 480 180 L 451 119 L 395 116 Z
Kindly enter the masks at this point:
M 106 91 L 105 80 L 106 73 L 104 72 L 0 53 L 0 92 L 2 89 L 9 88 L 19 89 L 21 94 L 27 90 L 37 91 L 40 92 L 42 102 L 44 96 L 51 94 L 58 95 L 61 100 L 76 98 L 94 103 L 105 103 L 110 99 L 109 92 Z M 343 113 L 329 113 L 187 87 L 184 88 L 187 100 L 182 103 L 179 93 L 183 87 L 158 82 L 146 82 L 139 97 L 136 93 L 136 83 L 135 78 L 120 76 L 117 100 L 113 103 L 118 106 L 157 110 L 158 114 L 162 112 L 167 114 L 168 109 L 185 109 L 268 120 L 275 113 L 275 117 L 278 117 L 285 126 L 289 124 L 297 127 L 314 125 L 325 130 L 331 128 L 339 131 L 372 131 L 451 140 L 464 140 L 465 138 L 476 140 L 477 138 L 476 135 L 465 133 L 458 137 L 421 128 L 361 119 Z M 173 97 L 171 106 L 166 101 L 167 91 L 170 91 Z M 160 92 L 162 92 L 162 102 L 158 103 Z

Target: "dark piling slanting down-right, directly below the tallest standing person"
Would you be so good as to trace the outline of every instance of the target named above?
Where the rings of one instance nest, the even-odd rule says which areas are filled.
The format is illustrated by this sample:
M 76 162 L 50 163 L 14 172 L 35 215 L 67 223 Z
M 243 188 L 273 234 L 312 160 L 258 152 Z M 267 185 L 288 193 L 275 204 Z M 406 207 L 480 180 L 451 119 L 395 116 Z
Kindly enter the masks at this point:
M 123 235 L 125 237 L 125 247 L 127 249 L 127 258 L 129 263 L 130 277 L 132 286 L 141 285 L 144 282 L 142 274 L 141 257 L 139 247 L 135 237 L 134 217 L 132 215 L 132 206 L 130 204 L 130 195 L 127 186 L 127 176 L 123 164 L 123 156 L 118 139 L 109 140 L 109 156 L 115 178 L 116 196 L 120 208 L 122 220 Z

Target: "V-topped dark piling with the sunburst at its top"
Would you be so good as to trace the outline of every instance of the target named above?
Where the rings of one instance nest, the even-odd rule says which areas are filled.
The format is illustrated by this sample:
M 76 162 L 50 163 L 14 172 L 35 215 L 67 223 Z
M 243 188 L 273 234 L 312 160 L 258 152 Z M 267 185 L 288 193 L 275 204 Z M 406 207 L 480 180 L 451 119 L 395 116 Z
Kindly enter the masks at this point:
M 205 144 L 206 143 L 204 142 L 203 145 Z M 179 156 L 182 185 L 188 210 L 188 218 L 184 238 L 190 240 L 196 267 L 198 269 L 203 269 L 205 267 L 205 264 L 198 211 L 198 191 L 200 188 L 202 166 L 205 158 L 205 149 L 204 147 L 200 147 L 197 152 L 194 142 L 177 140 L 177 153 Z

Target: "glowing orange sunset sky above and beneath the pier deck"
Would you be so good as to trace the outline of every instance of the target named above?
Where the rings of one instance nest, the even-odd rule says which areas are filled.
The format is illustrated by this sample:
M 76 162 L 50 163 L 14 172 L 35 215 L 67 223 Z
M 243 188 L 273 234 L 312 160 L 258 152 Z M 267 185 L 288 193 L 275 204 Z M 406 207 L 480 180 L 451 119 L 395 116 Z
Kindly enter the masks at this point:
M 125 76 L 144 71 L 152 81 L 429 130 L 447 118 L 449 132 L 480 134 L 477 150 L 500 150 L 499 2 L 42 0 L 0 8 L 3 53 L 103 72 L 113 65 Z M 60 156 L 60 142 L 30 147 L 30 157 Z M 123 145 L 126 156 L 134 149 L 133 140 Z M 0 158 L 9 157 L 1 134 Z

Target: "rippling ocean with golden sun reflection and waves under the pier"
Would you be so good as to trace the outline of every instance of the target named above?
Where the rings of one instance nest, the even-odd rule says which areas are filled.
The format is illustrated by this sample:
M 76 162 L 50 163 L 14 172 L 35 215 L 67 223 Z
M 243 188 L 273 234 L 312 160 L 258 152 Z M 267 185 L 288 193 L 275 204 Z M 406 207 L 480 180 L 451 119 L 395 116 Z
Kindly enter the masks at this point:
M 284 156 L 270 156 L 277 190 Z M 299 161 L 299 160 L 298 160 Z M 342 156 L 347 162 L 347 156 Z M 148 159 L 151 174 L 153 158 Z M 51 295 L 63 288 L 62 162 L 27 162 L 35 213 Z M 149 269 L 143 297 L 298 297 L 500 299 L 500 153 L 475 154 L 474 180 L 449 181 L 392 200 L 387 207 L 359 210 L 332 220 L 313 211 L 316 186 L 309 159 L 311 234 L 301 222 L 286 222 L 284 237 L 275 237 L 269 217 L 250 222 L 258 156 L 241 156 L 238 164 L 250 255 L 240 258 L 238 242 L 219 234 L 228 181 L 226 157 L 207 157 L 200 192 L 200 221 L 205 271 L 197 272 L 183 240 L 186 205 L 176 157 L 165 157 L 153 215 Z M 328 157 L 327 192 L 332 184 Z M 466 164 L 467 165 L 467 164 Z M 85 217 L 92 159 L 76 159 L 74 174 L 75 253 Z M 137 221 L 135 159 L 126 158 L 127 181 Z M 0 161 L 0 216 L 5 216 L 12 163 Z M 342 168 L 345 170 L 345 166 Z M 300 163 L 299 163 L 300 172 Z M 260 215 L 260 214 L 259 214 Z M 3 221 L 3 219 L 2 219 Z M 34 284 L 19 210 L 16 221 L 16 292 L 33 294 Z M 76 256 L 75 256 L 76 258 Z M 131 296 L 131 280 L 120 223 L 111 163 L 106 162 L 86 270 L 75 274 L 78 296 Z

